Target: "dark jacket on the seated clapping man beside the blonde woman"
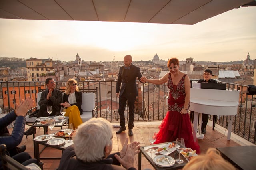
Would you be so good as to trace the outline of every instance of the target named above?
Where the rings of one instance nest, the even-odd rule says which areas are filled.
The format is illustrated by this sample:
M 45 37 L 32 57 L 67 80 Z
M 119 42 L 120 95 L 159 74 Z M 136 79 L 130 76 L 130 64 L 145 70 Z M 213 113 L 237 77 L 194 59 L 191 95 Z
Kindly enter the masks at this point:
M 54 89 L 49 101 L 47 100 L 48 93 L 49 93 L 48 89 L 46 89 L 42 92 L 41 99 L 38 102 L 38 105 L 39 106 L 47 105 L 48 102 L 52 101 L 53 107 L 54 107 L 54 108 L 52 108 L 52 110 L 55 110 L 56 112 L 60 113 L 60 103 L 62 101 L 62 92 L 58 89 Z M 53 113 L 53 111 L 52 111 L 52 115 L 55 115 L 55 113 Z

